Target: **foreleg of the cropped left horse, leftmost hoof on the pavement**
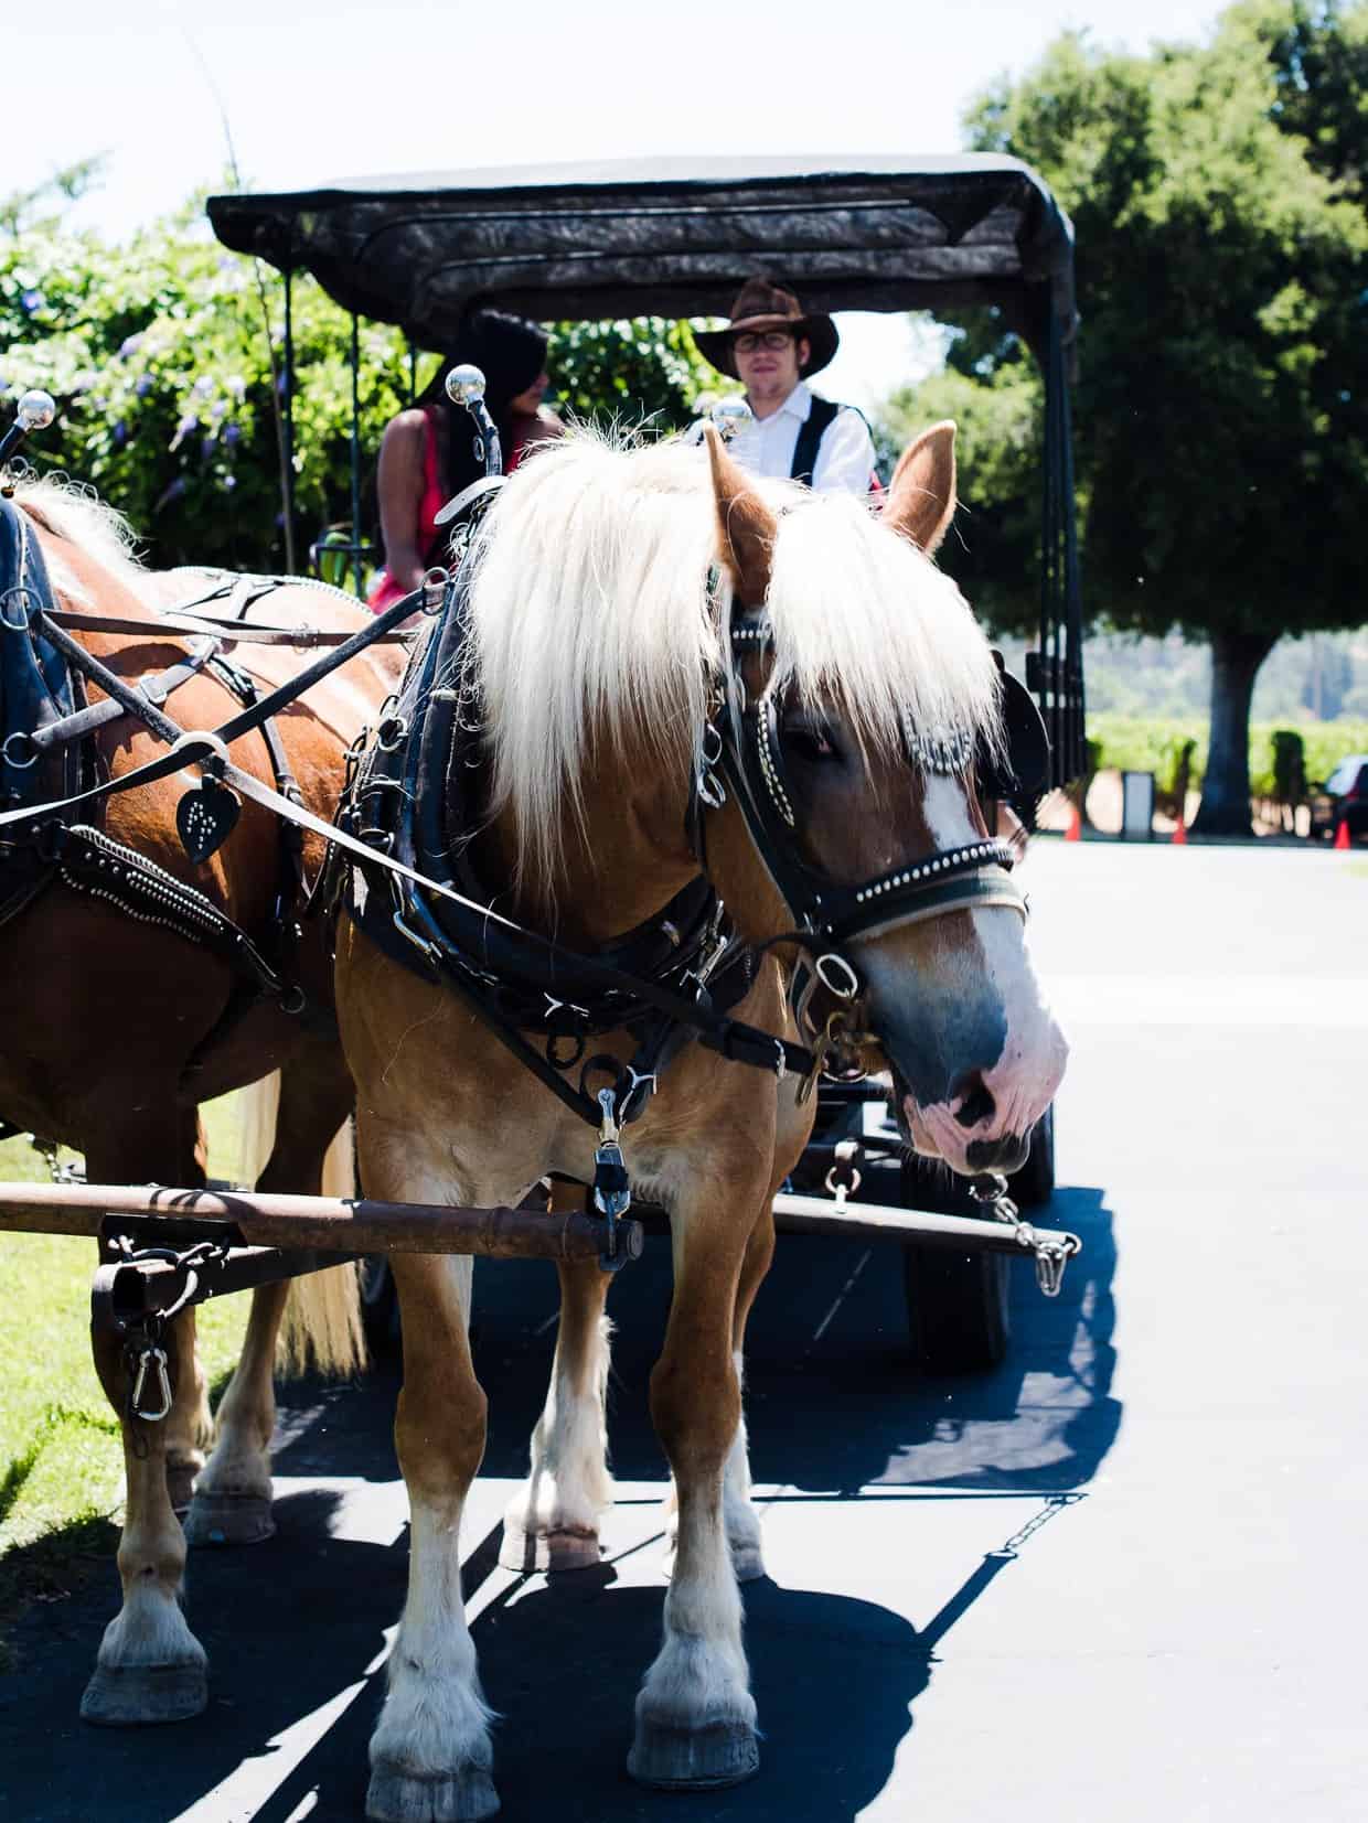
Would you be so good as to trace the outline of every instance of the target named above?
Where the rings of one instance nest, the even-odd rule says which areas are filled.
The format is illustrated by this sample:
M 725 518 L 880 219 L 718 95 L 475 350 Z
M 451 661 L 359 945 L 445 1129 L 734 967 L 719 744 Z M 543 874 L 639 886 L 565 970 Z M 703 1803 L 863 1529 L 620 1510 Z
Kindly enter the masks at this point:
M 173 1088 L 148 1094 L 144 1107 L 175 1108 Z M 117 1136 L 86 1147 L 88 1167 L 104 1183 L 146 1178 L 157 1158 L 175 1159 L 175 1134 L 153 1117 L 126 1119 Z M 161 1340 L 173 1409 L 179 1402 L 182 1415 L 195 1404 L 195 1331 L 188 1316 L 184 1311 Z M 106 1725 L 182 1721 L 208 1703 L 208 1661 L 181 1612 L 186 1540 L 166 1488 L 170 1418 L 157 1424 L 133 1416 L 122 1336 L 93 1331 L 91 1344 L 95 1371 L 122 1424 L 128 1491 L 119 1540 L 122 1608 L 104 1630 L 80 1714 Z

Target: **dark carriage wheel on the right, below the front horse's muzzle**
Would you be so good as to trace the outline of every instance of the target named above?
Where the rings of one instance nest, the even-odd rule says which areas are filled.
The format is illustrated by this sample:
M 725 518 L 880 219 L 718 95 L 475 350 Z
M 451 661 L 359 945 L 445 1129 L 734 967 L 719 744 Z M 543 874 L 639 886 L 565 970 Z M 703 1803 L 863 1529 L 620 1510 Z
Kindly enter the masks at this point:
M 903 1207 L 947 1216 L 981 1214 L 969 1192 L 919 1159 L 903 1165 Z M 903 1247 L 903 1291 L 912 1356 L 928 1375 L 998 1367 L 1010 1338 L 1010 1258 L 985 1247 Z

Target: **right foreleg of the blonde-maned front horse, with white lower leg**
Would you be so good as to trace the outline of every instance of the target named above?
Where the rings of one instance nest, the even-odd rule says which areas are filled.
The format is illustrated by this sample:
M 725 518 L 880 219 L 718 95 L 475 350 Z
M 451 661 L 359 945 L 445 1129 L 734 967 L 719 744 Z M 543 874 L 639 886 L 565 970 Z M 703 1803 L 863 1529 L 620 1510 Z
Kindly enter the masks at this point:
M 697 1179 L 675 1209 L 675 1296 L 651 1375 L 651 1416 L 675 1475 L 679 1533 L 664 1644 L 637 1697 L 627 1772 L 668 1790 L 737 1785 L 759 1768 L 722 1482 L 741 1427 L 733 1311 L 761 1198 L 750 1223 L 726 1221 L 722 1209 L 722 1187 Z

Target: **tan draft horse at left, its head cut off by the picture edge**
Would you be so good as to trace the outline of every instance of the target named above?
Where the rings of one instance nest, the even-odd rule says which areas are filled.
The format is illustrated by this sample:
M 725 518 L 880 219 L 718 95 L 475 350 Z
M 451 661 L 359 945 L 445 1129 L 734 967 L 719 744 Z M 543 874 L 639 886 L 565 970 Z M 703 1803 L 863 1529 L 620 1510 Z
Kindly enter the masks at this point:
M 157 625 L 157 609 L 193 598 L 202 576 L 142 569 L 130 556 L 122 520 L 58 483 L 20 483 L 16 505 L 38 538 L 58 607 L 148 622 L 146 636 L 82 633 L 88 651 L 130 682 L 184 658 L 186 640 Z M 274 591 L 252 613 L 272 623 L 347 631 L 368 618 L 336 591 L 314 587 Z M 235 645 L 228 656 L 263 687 L 303 664 L 288 645 Z M 376 718 L 398 665 L 392 651 L 372 651 L 279 716 L 288 764 L 316 813 L 332 815 L 347 747 Z M 100 698 L 93 685 L 89 695 L 91 702 Z M 182 727 L 217 727 L 239 707 L 224 684 L 204 673 L 170 696 L 166 713 Z M 106 724 L 97 740 L 115 777 L 166 751 L 131 716 Z M 275 784 L 261 735 L 244 735 L 232 757 Z M 199 888 L 264 944 L 281 882 L 275 819 L 246 802 L 226 844 L 195 866 L 175 826 L 177 800 L 195 782 L 195 773 L 181 773 L 108 798 L 104 833 Z M 321 864 L 321 846 L 305 837 L 310 877 Z M 53 881 L 4 930 L 0 1110 L 22 1128 L 84 1152 L 93 1181 L 197 1185 L 204 1181 L 197 1103 L 279 1072 L 279 1117 L 259 1181 L 264 1189 L 317 1194 L 325 1154 L 352 1105 L 332 1015 L 330 948 L 325 922 L 305 921 L 297 946 L 303 1015 L 286 1014 L 277 999 L 259 999 L 224 1021 L 241 986 L 226 961 Z M 292 1322 L 312 1338 L 319 1364 L 348 1371 L 358 1358 L 350 1269 L 297 1280 L 290 1302 Z M 193 1309 L 168 1331 L 175 1398 L 161 1424 L 130 1418 L 119 1340 L 97 1344 L 95 1365 L 124 1426 L 128 1506 L 119 1548 L 124 1601 L 82 1703 L 88 1721 L 175 1721 L 206 1703 L 204 1652 L 179 1601 L 186 1537 L 252 1542 L 274 1529 L 272 1365 L 285 1305 L 285 1285 L 254 1294 L 243 1358 L 219 1406 L 217 1447 L 208 1464 L 212 1424 L 195 1360 Z M 173 1508 L 190 1502 L 192 1482 L 182 1533 Z

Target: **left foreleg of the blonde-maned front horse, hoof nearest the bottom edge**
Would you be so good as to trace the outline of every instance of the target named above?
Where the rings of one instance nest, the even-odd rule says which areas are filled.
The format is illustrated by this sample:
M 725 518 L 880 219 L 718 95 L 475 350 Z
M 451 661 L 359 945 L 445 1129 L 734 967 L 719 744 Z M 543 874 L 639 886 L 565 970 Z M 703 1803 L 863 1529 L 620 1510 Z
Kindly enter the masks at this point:
M 365 1158 L 363 1172 L 370 1185 Z M 412 1179 L 403 1189 L 412 1192 Z M 461 1509 L 485 1451 L 485 1395 L 467 1340 L 471 1265 L 392 1256 L 403 1325 L 394 1442 L 412 1520 L 409 1597 L 370 1739 L 372 1823 L 467 1823 L 498 1810 L 491 1715 L 461 1599 Z

